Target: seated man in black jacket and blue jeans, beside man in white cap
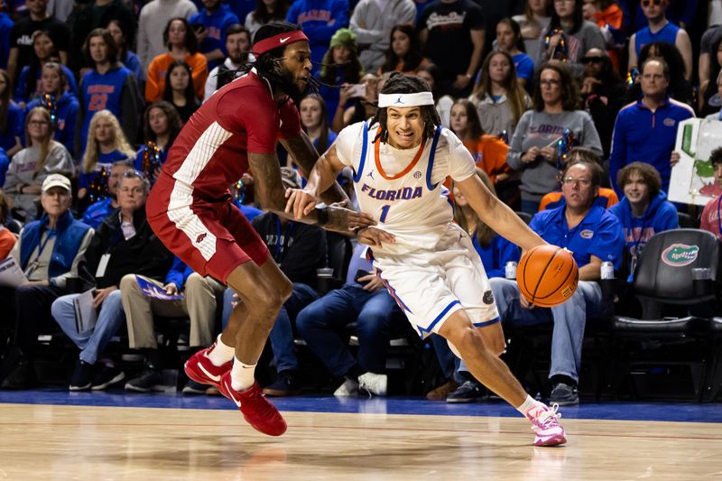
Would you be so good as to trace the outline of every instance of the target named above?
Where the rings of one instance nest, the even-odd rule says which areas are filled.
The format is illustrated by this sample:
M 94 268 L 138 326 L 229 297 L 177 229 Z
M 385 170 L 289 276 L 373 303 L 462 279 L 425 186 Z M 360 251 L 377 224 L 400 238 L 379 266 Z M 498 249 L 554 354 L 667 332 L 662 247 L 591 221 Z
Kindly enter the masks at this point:
M 162 280 L 171 267 L 171 253 L 145 218 L 149 190 L 150 183 L 143 173 L 125 172 L 118 189 L 120 208 L 97 227 L 84 256 L 83 268 L 94 277 L 88 288 L 92 288 L 91 307 L 97 310 L 95 324 L 92 319 L 77 317 L 76 309 L 85 310 L 81 301 L 74 302 L 80 294 L 62 296 L 52 303 L 52 317 L 80 349 L 70 391 L 102 390 L 125 379 L 125 374 L 113 365 L 97 362 L 118 328 L 125 324 L 120 280 L 129 273 Z

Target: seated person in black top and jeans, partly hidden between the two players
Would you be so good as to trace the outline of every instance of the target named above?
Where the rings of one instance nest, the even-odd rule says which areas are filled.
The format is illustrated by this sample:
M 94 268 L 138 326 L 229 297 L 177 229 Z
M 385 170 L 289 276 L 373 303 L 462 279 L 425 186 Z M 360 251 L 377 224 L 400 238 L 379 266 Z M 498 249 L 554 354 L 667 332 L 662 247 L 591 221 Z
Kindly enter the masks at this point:
M 292 168 L 282 167 L 281 176 L 283 187 L 301 189 L 301 177 Z M 294 222 L 271 212 L 255 217 L 252 224 L 268 246 L 273 261 L 293 283 L 291 297 L 283 302 L 269 335 L 278 375 L 273 384 L 264 387 L 264 394 L 298 394 L 301 391 L 299 363 L 294 352 L 292 321 L 295 322 L 303 308 L 319 299 L 312 286 L 316 286 L 316 269 L 326 262 L 326 233 L 318 226 Z M 235 291 L 228 288 L 223 309 L 224 328 L 236 301 Z

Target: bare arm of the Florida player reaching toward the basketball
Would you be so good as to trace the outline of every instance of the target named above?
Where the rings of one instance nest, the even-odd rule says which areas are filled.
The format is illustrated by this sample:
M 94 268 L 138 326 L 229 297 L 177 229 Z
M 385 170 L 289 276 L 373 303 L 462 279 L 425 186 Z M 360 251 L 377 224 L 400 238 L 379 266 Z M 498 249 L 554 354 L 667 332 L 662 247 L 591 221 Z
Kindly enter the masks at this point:
M 476 175 L 456 182 L 455 186 L 464 194 L 469 205 L 477 212 L 478 217 L 500 236 L 519 245 L 523 250 L 531 249 L 535 245 L 546 244 L 542 237 L 532 231 L 519 216 L 514 214 L 514 210 L 486 189 L 486 186 Z

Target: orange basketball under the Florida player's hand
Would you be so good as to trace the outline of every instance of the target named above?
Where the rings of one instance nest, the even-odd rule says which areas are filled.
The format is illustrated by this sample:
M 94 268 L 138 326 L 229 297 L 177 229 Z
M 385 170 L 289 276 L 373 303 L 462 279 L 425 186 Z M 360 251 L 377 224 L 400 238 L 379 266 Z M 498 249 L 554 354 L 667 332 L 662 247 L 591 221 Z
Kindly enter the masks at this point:
M 533 305 L 553 308 L 577 290 L 579 269 L 568 250 L 556 245 L 537 245 L 519 261 L 516 282 Z

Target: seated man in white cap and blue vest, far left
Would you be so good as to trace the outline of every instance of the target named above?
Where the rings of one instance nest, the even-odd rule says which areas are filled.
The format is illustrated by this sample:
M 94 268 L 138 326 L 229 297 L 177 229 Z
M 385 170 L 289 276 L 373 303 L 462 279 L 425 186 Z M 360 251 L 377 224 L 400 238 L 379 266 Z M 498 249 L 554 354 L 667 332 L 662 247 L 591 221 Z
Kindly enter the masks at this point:
M 14 340 L 0 373 L 4 389 L 27 389 L 35 383 L 32 355 L 43 324 L 51 322 L 51 303 L 74 291 L 78 265 L 93 238 L 93 229 L 70 214 L 70 180 L 51 174 L 42 182 L 45 213 L 25 225 L 10 255 L 23 269 L 23 285 L 0 289 L 0 305 L 15 307 Z M 5 339 L 1 339 L 3 342 Z

